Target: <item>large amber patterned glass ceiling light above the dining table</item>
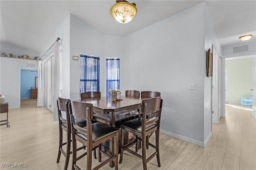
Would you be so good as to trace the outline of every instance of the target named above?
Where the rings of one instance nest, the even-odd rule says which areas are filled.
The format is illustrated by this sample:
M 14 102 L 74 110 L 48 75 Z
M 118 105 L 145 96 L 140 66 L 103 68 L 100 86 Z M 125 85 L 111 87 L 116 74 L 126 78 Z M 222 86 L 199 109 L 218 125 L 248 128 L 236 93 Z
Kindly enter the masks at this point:
M 137 14 L 136 4 L 129 3 L 126 0 L 116 0 L 116 4 L 110 8 L 110 14 L 117 22 L 128 23 Z

